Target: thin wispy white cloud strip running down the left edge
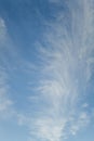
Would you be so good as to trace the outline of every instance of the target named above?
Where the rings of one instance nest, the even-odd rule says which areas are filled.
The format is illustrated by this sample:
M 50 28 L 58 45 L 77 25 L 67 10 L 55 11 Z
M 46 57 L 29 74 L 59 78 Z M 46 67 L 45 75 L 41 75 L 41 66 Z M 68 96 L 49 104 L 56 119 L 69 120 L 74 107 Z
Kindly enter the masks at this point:
M 8 74 L 2 66 L 2 53 L 4 51 L 6 41 L 6 27 L 4 21 L 0 17 L 0 118 L 8 112 L 13 104 L 8 97 L 9 85 L 6 82 Z

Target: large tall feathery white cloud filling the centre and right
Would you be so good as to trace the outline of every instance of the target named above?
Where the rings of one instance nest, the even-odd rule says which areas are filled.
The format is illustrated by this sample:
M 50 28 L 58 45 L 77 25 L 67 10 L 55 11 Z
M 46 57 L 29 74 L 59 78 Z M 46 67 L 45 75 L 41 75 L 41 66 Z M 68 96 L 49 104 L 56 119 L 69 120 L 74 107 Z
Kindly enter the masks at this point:
M 90 8 L 92 1 L 72 2 L 67 2 L 70 21 L 67 18 L 65 21 L 69 23 L 59 22 L 59 17 L 49 24 L 46 22 L 48 30 L 44 31 L 42 41 L 37 43 L 42 62 L 42 69 L 39 69 L 39 75 L 42 77 L 38 81 L 37 92 L 39 101 L 43 102 L 43 107 L 39 111 L 39 102 L 38 113 L 36 112 L 32 123 L 33 128 L 30 128 L 31 126 L 29 128 L 31 137 L 35 134 L 35 138 L 41 140 L 65 140 L 70 134 L 77 134 L 91 121 L 92 114 L 85 113 L 88 104 L 83 105 L 85 110 L 79 104 L 82 105 L 80 100 L 88 94 L 86 87 L 92 75 L 88 62 L 93 57 L 91 53 L 94 42 L 90 46 L 86 40 L 92 28 L 92 21 L 86 16 L 86 12 L 90 13 L 86 5 Z M 64 11 L 61 11 L 62 14 Z M 91 24 L 86 25 L 86 21 Z

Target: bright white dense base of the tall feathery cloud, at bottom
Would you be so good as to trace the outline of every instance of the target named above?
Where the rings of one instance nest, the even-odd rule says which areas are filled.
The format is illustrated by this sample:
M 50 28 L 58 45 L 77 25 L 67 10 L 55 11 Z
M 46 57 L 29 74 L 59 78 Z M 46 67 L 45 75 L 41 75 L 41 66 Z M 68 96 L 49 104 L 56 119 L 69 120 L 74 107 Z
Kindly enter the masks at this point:
M 39 137 L 41 134 L 43 140 L 45 140 L 46 137 L 50 141 L 59 141 L 65 124 L 66 120 L 64 119 L 58 123 L 58 119 L 53 120 L 53 118 L 46 117 L 44 119 L 39 119 L 36 123 L 38 126 Z

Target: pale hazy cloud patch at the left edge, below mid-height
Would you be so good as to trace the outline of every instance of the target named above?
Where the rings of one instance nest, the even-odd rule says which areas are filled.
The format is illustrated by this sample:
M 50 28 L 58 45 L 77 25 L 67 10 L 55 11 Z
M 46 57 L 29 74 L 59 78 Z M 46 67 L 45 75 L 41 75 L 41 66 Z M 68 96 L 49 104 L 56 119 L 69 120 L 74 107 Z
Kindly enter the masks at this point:
M 2 68 L 3 69 L 3 68 Z M 0 68 L 0 118 L 11 115 L 13 101 L 9 98 L 8 75 Z M 9 114 L 8 114 L 9 113 Z

